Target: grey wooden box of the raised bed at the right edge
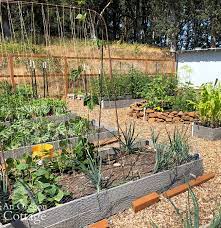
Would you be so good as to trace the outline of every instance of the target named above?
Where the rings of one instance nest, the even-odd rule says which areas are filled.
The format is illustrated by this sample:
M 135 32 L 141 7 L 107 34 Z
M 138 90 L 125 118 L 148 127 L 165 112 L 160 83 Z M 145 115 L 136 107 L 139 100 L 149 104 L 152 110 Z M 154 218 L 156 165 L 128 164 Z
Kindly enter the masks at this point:
M 192 134 L 193 134 L 193 136 L 203 138 L 203 139 L 220 140 L 221 139 L 221 127 L 211 128 L 211 127 L 204 127 L 197 123 L 193 123 Z

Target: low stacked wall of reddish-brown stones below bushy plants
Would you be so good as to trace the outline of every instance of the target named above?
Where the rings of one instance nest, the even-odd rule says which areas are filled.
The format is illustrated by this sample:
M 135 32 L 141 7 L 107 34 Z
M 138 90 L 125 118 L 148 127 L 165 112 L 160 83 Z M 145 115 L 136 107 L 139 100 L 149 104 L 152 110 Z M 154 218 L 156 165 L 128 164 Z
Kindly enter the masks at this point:
M 154 109 L 147 108 L 144 113 L 146 101 L 138 102 L 130 106 L 128 115 L 137 119 L 145 119 L 149 123 L 167 122 L 167 123 L 190 123 L 198 120 L 196 112 L 182 111 L 165 111 L 160 112 Z

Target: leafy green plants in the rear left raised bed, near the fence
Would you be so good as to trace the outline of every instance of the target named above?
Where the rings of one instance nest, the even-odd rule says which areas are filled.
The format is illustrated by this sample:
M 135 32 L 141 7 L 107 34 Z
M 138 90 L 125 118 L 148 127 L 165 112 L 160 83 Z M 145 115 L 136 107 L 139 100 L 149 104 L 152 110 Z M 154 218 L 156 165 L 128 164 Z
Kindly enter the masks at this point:
M 29 85 L 18 85 L 16 91 L 7 82 L 0 84 L 0 121 L 14 121 L 67 114 L 66 102 L 60 99 L 33 99 Z

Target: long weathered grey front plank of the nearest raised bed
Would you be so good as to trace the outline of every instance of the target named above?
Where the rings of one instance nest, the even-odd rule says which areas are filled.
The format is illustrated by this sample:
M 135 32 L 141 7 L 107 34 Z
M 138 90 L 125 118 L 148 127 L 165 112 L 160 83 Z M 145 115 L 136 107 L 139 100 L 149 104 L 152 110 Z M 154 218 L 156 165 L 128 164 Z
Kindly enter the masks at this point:
M 104 218 L 122 212 L 131 206 L 131 202 L 152 192 L 164 192 L 165 189 L 182 184 L 192 179 L 192 175 L 203 174 L 202 159 L 189 162 L 167 170 L 129 181 L 111 189 L 102 190 L 80 199 L 73 200 L 61 206 L 50 208 L 2 228 L 18 228 L 21 224 L 32 228 L 79 228 L 93 224 Z M 43 216 L 43 218 L 42 218 Z M 42 219 L 40 219 L 42 218 Z M 38 219 L 38 225 L 35 224 Z M 20 225 L 20 226 L 19 226 Z

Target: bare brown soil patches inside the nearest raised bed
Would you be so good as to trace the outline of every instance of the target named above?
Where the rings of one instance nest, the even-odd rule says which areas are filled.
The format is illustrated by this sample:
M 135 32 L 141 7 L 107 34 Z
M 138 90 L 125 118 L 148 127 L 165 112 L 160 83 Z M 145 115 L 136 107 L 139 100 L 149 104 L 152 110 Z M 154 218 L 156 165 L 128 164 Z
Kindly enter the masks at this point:
M 112 188 L 130 180 L 140 179 L 150 175 L 155 163 L 155 153 L 149 148 L 142 149 L 134 154 L 122 153 L 107 158 L 102 165 L 104 188 Z M 83 173 L 74 171 L 64 174 L 60 179 L 64 189 L 77 199 L 96 192 L 90 179 Z

